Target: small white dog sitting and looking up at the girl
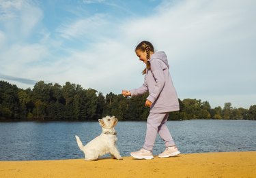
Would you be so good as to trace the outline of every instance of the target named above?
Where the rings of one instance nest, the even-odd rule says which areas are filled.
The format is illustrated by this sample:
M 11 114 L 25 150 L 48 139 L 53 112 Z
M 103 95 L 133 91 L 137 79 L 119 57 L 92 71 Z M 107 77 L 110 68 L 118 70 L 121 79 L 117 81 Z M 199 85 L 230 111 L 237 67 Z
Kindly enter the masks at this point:
M 85 160 L 97 160 L 99 156 L 104 154 L 111 154 L 112 158 L 122 160 L 123 158 L 115 146 L 117 132 L 115 132 L 114 127 L 117 124 L 117 118 L 115 116 L 106 116 L 98 121 L 100 122 L 100 126 L 102 126 L 102 133 L 87 143 L 87 145 L 83 146 L 79 137 L 76 136 L 77 145 L 79 145 L 79 148 L 85 154 Z

